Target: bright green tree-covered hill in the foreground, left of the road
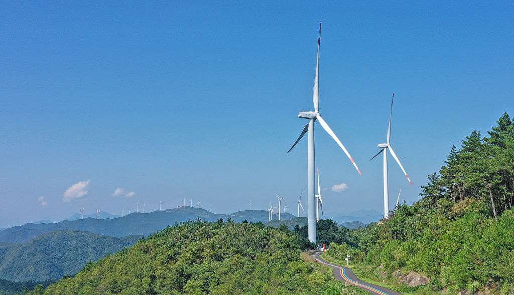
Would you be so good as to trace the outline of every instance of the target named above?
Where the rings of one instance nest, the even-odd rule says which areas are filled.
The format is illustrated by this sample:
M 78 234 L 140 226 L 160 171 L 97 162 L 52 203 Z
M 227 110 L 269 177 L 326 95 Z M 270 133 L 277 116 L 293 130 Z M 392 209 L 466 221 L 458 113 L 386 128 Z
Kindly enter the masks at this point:
M 189 222 L 89 263 L 44 293 L 336 294 L 347 288 L 326 268 L 304 262 L 300 242 L 287 229 L 262 224 Z

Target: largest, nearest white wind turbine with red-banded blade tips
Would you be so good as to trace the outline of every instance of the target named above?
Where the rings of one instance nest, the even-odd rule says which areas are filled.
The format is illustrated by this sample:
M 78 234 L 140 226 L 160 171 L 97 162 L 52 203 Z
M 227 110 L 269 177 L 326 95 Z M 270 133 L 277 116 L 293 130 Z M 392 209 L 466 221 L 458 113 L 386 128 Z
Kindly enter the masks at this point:
M 309 241 L 316 243 L 316 212 L 315 212 L 315 206 L 316 206 L 316 193 L 315 193 L 315 174 L 316 174 L 316 163 L 315 163 L 315 157 L 314 157 L 314 122 L 318 120 L 323 127 L 323 129 L 330 135 L 332 138 L 339 144 L 341 149 L 344 151 L 346 156 L 350 158 L 352 163 L 355 166 L 355 169 L 360 173 L 359 168 L 357 167 L 357 164 L 352 159 L 348 151 L 344 148 L 344 145 L 341 143 L 341 141 L 337 138 L 337 136 L 334 134 L 332 129 L 328 126 L 328 124 L 323 120 L 319 113 L 319 62 L 320 62 L 320 41 L 321 41 L 321 24 L 320 24 L 320 33 L 318 36 L 318 55 L 316 59 L 316 75 L 314 78 L 314 88 L 313 88 L 313 102 L 314 102 L 314 112 L 300 112 L 298 114 L 299 118 L 302 119 L 308 119 L 309 122 L 305 127 L 303 128 L 302 133 L 300 134 L 300 137 L 296 140 L 295 144 L 291 146 L 291 149 L 289 149 L 288 153 L 292 150 L 292 148 L 295 147 L 295 145 L 302 139 L 302 137 L 305 135 L 305 133 L 308 131 L 308 146 L 307 146 L 307 202 L 308 202 L 308 208 L 311 209 L 308 211 L 308 237 Z

